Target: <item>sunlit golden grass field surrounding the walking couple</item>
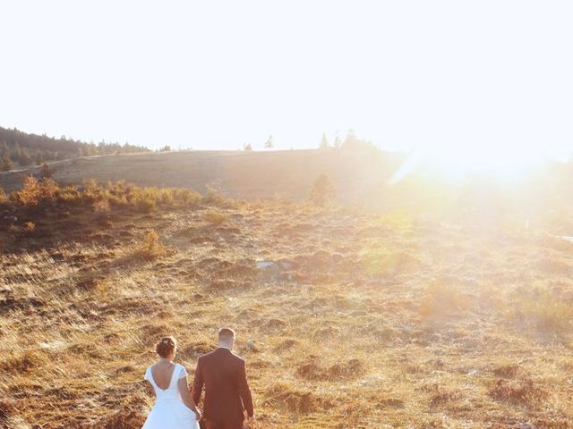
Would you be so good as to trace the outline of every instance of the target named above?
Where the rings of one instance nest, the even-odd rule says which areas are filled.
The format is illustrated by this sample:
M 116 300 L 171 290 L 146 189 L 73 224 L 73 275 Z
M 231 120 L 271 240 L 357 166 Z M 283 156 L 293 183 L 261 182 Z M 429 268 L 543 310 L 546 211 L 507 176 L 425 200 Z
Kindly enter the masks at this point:
M 175 335 L 192 375 L 223 325 L 254 428 L 573 427 L 568 240 L 302 202 L 46 192 L 0 203 L 18 217 L 0 217 L 2 428 L 139 428 L 158 337 Z

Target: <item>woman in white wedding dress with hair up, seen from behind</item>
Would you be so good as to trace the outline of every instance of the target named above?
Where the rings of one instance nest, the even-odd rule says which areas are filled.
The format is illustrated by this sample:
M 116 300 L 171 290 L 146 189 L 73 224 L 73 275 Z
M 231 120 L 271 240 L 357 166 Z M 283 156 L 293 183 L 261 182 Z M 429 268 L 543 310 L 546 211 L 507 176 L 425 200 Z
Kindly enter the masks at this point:
M 173 363 L 176 348 L 173 337 L 159 340 L 156 350 L 160 359 L 145 371 L 145 380 L 157 399 L 142 429 L 199 429 L 201 413 L 189 392 L 187 371 Z

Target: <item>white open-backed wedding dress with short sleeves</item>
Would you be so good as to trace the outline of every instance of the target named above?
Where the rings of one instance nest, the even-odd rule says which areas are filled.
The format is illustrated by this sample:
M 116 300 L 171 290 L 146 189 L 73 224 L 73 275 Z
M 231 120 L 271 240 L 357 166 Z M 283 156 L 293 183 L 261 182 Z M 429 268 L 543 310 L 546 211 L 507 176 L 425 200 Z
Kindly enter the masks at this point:
M 199 429 L 197 418 L 187 407 L 179 393 L 179 379 L 187 376 L 184 366 L 175 364 L 167 389 L 163 390 L 153 380 L 151 366 L 145 371 L 145 380 L 151 383 L 157 399 L 142 429 Z

